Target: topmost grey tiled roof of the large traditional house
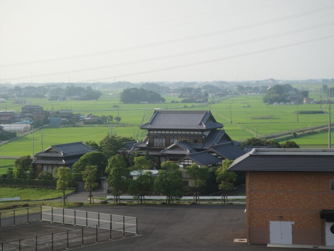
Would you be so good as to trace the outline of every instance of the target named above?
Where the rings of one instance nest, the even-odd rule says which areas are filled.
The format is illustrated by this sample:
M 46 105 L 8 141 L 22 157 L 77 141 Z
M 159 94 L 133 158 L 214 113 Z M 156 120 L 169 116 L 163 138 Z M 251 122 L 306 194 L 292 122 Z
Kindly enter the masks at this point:
M 141 129 L 191 129 L 204 130 L 222 128 L 223 124 L 216 122 L 211 111 L 172 111 L 154 110 L 151 118 Z

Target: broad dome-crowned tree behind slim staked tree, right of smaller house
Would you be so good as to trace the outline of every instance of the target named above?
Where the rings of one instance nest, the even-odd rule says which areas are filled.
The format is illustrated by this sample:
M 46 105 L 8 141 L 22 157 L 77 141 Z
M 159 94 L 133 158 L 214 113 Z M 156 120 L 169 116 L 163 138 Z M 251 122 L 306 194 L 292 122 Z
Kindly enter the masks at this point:
M 89 152 L 80 157 L 74 163 L 73 172 L 76 181 L 82 180 L 82 172 L 85 171 L 86 166 L 97 166 L 96 176 L 100 177 L 106 169 L 108 159 L 101 152 Z

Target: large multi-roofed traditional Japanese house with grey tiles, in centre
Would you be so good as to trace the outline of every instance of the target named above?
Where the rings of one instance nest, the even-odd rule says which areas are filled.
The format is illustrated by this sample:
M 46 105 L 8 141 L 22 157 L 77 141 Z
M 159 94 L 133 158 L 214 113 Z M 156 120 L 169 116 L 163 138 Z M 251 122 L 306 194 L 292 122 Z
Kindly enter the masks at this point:
M 181 169 L 196 163 L 218 165 L 224 159 L 243 155 L 238 146 L 222 129 L 210 110 L 154 110 L 149 121 L 141 126 L 148 134 L 143 141 L 127 144 L 130 152 L 148 151 L 157 169 L 164 161 L 173 161 Z

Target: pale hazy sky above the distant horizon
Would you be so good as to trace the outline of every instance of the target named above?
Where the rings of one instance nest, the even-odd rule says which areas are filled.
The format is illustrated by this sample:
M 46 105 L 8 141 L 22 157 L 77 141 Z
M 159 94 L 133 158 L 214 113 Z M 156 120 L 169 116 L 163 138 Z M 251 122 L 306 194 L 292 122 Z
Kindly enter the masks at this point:
M 2 83 L 334 78 L 333 45 L 333 0 L 0 0 Z

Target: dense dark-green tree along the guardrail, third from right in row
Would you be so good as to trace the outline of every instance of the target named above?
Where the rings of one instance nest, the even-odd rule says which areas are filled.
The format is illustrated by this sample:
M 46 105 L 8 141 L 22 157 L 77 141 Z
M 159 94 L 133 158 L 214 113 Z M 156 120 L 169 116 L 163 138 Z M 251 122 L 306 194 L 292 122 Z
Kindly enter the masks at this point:
M 183 181 L 179 165 L 171 161 L 161 163 L 158 178 L 155 181 L 155 191 L 166 195 L 166 203 L 173 202 L 174 198 L 182 198 Z

